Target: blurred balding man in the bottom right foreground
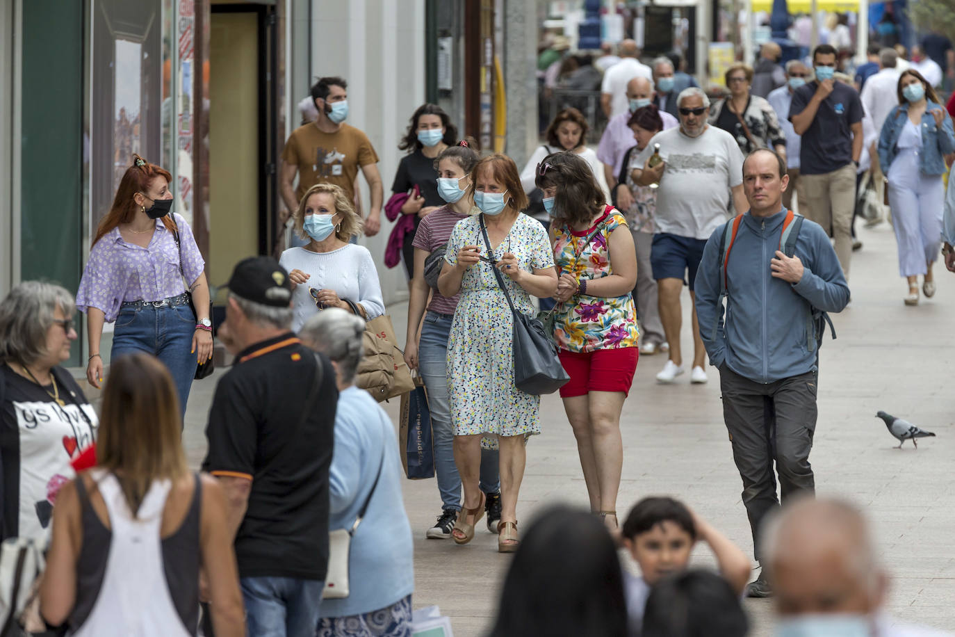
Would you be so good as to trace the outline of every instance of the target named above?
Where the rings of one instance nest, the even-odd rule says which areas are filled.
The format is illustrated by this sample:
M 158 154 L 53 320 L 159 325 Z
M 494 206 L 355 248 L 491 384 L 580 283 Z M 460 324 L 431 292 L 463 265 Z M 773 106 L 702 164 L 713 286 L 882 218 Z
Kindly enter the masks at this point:
M 775 587 L 777 635 L 943 637 L 900 625 L 884 612 L 889 578 L 859 508 L 839 499 L 799 499 L 765 527 Z

